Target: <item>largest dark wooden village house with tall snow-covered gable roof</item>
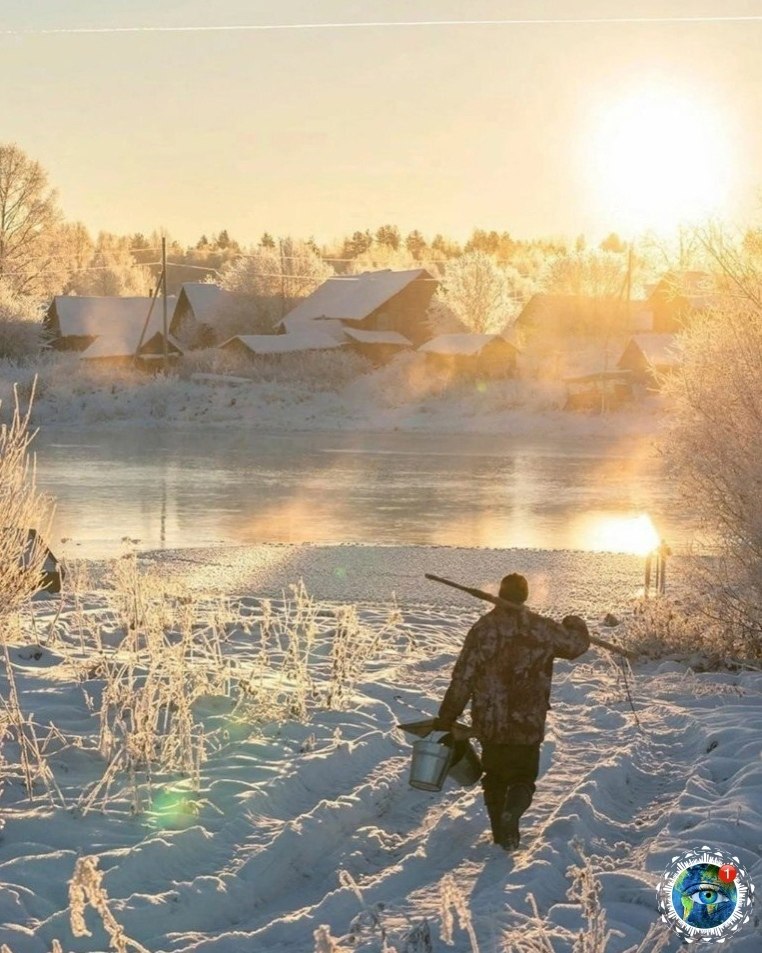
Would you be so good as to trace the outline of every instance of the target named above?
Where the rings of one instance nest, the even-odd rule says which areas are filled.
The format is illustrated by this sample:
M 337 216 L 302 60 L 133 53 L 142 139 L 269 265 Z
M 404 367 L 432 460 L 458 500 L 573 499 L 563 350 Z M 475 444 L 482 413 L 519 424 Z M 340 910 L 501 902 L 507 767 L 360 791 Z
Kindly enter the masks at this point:
M 314 321 L 338 321 L 361 331 L 395 331 L 413 344 L 430 334 L 426 311 L 437 280 L 423 268 L 363 272 L 324 281 L 280 322 L 283 333 Z

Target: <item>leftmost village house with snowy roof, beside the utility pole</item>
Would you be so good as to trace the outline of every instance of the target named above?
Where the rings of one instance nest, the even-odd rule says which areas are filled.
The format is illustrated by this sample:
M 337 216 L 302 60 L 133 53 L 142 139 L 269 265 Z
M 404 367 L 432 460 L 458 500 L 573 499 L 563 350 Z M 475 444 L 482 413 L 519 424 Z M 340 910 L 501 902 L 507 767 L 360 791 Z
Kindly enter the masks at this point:
M 153 309 L 151 304 L 150 297 L 57 295 L 43 319 L 44 333 L 50 346 L 60 351 L 84 351 L 99 337 L 129 340 L 134 351 L 141 335 L 145 341 L 162 330 L 162 302 L 157 299 Z M 171 327 L 175 299 L 168 299 L 168 304 Z

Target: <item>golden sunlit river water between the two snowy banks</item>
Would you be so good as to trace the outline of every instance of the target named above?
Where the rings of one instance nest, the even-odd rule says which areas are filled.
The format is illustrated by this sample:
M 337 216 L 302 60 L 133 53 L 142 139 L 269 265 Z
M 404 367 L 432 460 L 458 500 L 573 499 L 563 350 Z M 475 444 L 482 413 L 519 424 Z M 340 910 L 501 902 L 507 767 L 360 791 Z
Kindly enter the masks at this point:
M 377 543 L 633 552 L 653 519 L 685 541 L 646 442 L 477 435 L 42 433 L 54 539 L 78 553 L 219 543 Z M 628 522 L 629 521 L 629 522 Z

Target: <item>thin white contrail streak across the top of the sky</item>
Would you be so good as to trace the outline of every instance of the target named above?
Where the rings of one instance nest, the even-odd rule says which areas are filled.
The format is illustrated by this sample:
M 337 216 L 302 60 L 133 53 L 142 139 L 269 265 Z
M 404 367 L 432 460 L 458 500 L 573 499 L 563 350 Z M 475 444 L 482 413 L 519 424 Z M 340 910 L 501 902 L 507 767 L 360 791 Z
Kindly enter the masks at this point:
M 338 21 L 324 23 L 241 23 L 206 24 L 199 26 L 81 26 L 50 27 L 37 29 L 0 30 L 0 36 L 60 36 L 76 34 L 118 34 L 118 33 L 265 33 L 300 30 L 380 30 L 432 27 L 469 27 L 469 26 L 638 26 L 652 24 L 713 24 L 713 23 L 759 23 L 762 14 L 716 15 L 716 16 L 632 16 L 632 17 L 510 17 L 500 19 L 461 19 L 461 20 L 367 20 Z

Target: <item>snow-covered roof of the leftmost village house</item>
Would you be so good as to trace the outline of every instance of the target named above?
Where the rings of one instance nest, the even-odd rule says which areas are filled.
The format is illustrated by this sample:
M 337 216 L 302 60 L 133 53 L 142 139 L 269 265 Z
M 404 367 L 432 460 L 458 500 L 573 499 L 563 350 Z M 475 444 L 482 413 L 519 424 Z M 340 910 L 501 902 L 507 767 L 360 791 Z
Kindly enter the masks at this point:
M 172 319 L 176 299 L 167 299 L 167 321 Z M 140 340 L 148 310 L 149 297 L 86 297 L 80 295 L 57 295 L 53 299 L 61 337 L 99 337 L 134 340 L 135 350 Z M 146 337 L 151 337 L 162 327 L 162 302 L 157 299 L 151 314 Z M 137 332 L 137 333 L 136 333 Z

